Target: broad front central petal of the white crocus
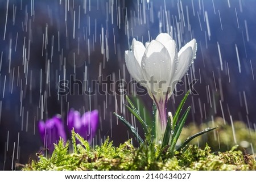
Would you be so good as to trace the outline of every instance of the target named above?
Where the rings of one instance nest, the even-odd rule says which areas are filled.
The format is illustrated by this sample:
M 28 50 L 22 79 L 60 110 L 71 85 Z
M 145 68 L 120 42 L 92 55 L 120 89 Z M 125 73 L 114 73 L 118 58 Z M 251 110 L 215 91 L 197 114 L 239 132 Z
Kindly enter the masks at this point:
M 168 50 L 159 41 L 152 40 L 142 58 L 142 73 L 146 81 L 151 81 L 147 87 L 152 95 L 166 98 L 170 83 L 170 65 Z

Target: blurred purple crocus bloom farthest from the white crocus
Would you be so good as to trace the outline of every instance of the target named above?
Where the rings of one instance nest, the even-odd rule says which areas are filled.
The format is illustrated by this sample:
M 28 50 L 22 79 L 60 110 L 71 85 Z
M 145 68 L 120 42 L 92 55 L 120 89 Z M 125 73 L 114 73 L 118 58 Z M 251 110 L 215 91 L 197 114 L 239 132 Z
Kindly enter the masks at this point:
M 54 149 L 53 143 L 57 143 L 60 137 L 67 141 L 60 115 L 49 118 L 46 122 L 40 120 L 38 128 L 42 141 L 44 141 L 44 148 L 48 148 L 50 152 Z

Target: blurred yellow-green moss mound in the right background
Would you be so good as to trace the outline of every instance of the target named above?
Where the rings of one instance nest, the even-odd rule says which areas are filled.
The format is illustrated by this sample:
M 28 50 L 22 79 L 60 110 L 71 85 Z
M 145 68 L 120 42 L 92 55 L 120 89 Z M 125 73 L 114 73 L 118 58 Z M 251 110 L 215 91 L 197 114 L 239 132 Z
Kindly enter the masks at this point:
M 189 124 L 183 128 L 180 135 L 179 142 L 184 141 L 185 138 L 203 130 L 207 127 L 218 125 L 218 129 L 212 132 L 205 133 L 202 136 L 193 139 L 190 144 L 205 147 L 208 143 L 212 151 L 226 151 L 230 150 L 232 146 L 239 145 L 240 150 L 245 150 L 248 154 L 253 154 L 256 151 L 256 132 L 246 126 L 244 122 L 234 121 L 234 134 L 232 126 L 227 122 L 224 123 L 222 118 L 216 118 L 213 122 L 208 122 L 201 125 Z M 236 138 L 236 142 L 234 141 Z

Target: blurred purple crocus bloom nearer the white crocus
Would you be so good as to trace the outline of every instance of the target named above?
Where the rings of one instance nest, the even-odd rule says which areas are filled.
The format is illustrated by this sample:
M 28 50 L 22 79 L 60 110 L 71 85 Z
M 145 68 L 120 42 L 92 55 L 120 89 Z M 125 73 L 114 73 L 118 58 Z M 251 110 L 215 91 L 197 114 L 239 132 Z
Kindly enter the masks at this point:
M 81 137 L 88 142 L 92 141 L 92 138 L 96 134 L 98 126 L 98 111 L 85 112 L 80 116 L 79 111 L 71 109 L 68 113 L 68 129 L 74 128 L 75 132 L 80 134 Z

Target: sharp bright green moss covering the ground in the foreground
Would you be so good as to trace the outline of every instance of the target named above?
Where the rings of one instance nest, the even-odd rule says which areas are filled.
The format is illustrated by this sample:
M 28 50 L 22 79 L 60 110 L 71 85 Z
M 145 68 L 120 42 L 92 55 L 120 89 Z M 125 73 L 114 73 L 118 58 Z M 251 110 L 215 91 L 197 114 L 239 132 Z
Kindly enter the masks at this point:
M 238 139 L 239 142 L 243 137 Z M 225 152 L 213 152 L 208 145 L 203 149 L 189 145 L 170 158 L 168 152 L 160 157 L 157 152 L 152 153 L 150 147 L 155 146 L 144 144 L 137 149 L 130 141 L 115 147 L 106 139 L 92 149 L 87 141 L 73 133 L 71 143 L 78 143 L 72 145 L 72 153 L 69 143 L 60 140 L 51 157 L 40 155 L 23 170 L 256 170 L 256 155 L 246 154 L 238 145 Z M 157 151 L 157 147 L 155 149 Z

